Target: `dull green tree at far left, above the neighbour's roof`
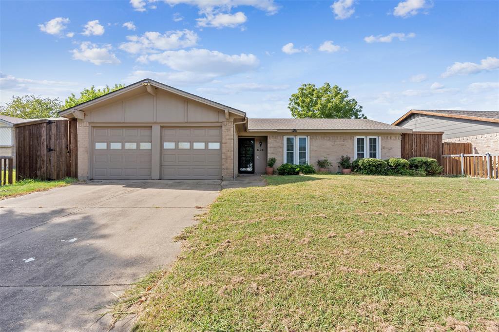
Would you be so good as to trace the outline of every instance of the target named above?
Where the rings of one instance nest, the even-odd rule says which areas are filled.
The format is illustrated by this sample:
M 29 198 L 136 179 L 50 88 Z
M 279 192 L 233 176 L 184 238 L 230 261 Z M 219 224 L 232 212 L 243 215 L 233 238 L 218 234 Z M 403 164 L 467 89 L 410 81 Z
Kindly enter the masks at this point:
M 0 114 L 21 119 L 56 118 L 61 107 L 62 103 L 58 98 L 12 96 L 10 101 L 0 106 Z

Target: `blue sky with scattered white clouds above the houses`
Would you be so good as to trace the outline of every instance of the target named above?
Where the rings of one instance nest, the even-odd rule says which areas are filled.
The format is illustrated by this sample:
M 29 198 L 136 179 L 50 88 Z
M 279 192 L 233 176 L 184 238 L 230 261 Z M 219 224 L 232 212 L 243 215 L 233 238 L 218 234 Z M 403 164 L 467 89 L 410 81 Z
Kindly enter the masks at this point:
M 302 83 L 370 119 L 499 110 L 499 1 L 0 1 L 1 103 L 143 78 L 289 117 Z M 126 23 L 126 24 L 125 24 Z

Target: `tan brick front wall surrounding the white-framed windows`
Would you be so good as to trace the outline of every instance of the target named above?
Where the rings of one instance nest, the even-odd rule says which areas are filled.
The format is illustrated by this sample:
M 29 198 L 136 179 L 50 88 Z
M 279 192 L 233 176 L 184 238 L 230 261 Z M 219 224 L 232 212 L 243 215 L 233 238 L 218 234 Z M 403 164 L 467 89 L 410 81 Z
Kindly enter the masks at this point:
M 353 160 L 354 155 L 354 138 L 355 136 L 366 136 L 366 134 L 317 134 L 310 135 L 300 133 L 300 136 L 308 136 L 310 139 L 309 159 L 310 164 L 317 167 L 317 160 L 326 157 L 333 166 L 329 167 L 330 171 L 339 171 L 338 162 L 341 156 L 349 156 Z M 380 136 L 374 135 L 372 136 Z M 284 136 L 291 135 L 268 135 L 267 151 L 268 158 L 276 159 L 274 168 L 279 167 L 283 163 Z M 400 158 L 401 135 L 400 134 L 385 134 L 381 135 L 381 159 Z

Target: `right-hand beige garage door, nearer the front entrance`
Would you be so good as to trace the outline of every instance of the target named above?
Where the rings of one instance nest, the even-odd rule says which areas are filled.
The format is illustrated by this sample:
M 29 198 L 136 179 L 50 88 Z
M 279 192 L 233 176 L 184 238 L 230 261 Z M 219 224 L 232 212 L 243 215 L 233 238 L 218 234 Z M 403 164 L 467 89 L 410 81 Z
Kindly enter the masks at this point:
M 163 128 L 161 177 L 222 178 L 222 128 Z

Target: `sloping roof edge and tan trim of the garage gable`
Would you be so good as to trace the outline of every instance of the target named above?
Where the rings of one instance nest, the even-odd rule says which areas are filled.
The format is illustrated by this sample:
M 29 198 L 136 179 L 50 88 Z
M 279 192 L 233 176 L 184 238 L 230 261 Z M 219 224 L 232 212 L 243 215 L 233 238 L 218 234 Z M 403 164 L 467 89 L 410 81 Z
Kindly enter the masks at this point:
M 235 114 L 238 114 L 238 115 L 246 117 L 246 113 L 243 112 L 243 111 L 241 111 L 241 110 L 238 110 L 238 109 L 235 109 L 233 107 L 217 103 L 217 102 L 215 102 L 213 100 L 206 99 L 206 98 L 194 95 L 192 93 L 189 93 L 189 92 L 186 92 L 186 91 L 174 88 L 172 86 L 169 86 L 169 85 L 157 82 L 157 81 L 152 80 L 150 78 L 145 78 L 145 79 L 143 79 L 141 81 L 138 81 L 138 82 L 135 82 L 133 84 L 127 85 L 124 88 L 121 88 L 121 89 L 109 92 L 109 93 L 107 93 L 105 95 L 102 95 L 100 97 L 97 97 L 95 99 L 92 99 L 92 100 L 89 100 L 87 102 L 75 105 L 75 106 L 73 106 L 71 108 L 62 110 L 62 111 L 59 112 L 59 115 L 64 116 L 64 115 L 68 115 L 68 114 L 72 113 L 74 110 L 83 110 L 85 107 L 94 105 L 96 103 L 99 103 L 101 101 L 107 100 L 109 98 L 113 98 L 115 96 L 119 96 L 122 93 L 125 93 L 125 92 L 128 92 L 130 90 L 139 88 L 139 87 L 143 86 L 144 84 L 146 84 L 146 85 L 152 85 L 155 88 L 160 88 L 160 89 L 163 89 L 165 91 L 168 91 L 168 92 L 171 92 L 171 93 L 175 93 L 175 94 L 177 94 L 179 96 L 183 96 L 185 98 L 193 99 L 193 100 L 196 100 L 198 102 L 201 102 L 201 103 L 204 103 L 204 104 L 207 104 L 207 105 L 211 105 L 213 107 L 216 107 L 216 108 L 219 108 L 219 109 L 222 109 L 222 110 L 227 110 L 229 112 L 232 112 L 232 113 L 235 113 Z

